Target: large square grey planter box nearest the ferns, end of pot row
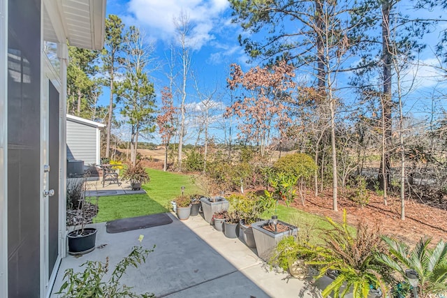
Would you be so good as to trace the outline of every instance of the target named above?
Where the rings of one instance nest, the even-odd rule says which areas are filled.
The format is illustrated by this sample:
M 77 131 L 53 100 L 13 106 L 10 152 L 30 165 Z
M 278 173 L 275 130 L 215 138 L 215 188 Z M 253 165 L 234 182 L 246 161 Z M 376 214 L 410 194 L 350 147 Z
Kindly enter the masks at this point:
M 278 221 L 278 223 L 287 225 L 290 230 L 285 232 L 270 232 L 262 228 L 266 223 L 269 223 L 269 220 L 252 223 L 251 228 L 253 228 L 254 241 L 256 243 L 256 250 L 258 251 L 258 257 L 268 261 L 278 242 L 288 235 L 297 236 L 298 228 L 295 227 L 295 225 L 290 225 L 284 221 Z

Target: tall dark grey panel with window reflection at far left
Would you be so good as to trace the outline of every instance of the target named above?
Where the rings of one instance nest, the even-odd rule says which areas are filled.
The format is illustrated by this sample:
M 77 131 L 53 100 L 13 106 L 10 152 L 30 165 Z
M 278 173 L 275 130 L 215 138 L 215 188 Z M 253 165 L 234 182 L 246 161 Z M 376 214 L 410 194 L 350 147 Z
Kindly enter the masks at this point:
M 39 297 L 41 1 L 8 1 L 8 297 Z M 26 281 L 26 282 L 24 282 Z

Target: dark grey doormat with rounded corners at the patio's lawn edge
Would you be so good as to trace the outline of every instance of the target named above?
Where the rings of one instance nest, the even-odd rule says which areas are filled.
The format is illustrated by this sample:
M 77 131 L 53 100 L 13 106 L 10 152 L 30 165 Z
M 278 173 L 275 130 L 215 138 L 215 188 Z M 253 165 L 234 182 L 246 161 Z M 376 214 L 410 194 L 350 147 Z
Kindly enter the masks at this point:
M 156 227 L 157 225 L 167 225 L 168 223 L 172 222 L 173 219 L 170 218 L 168 214 L 151 214 L 146 216 L 122 218 L 117 219 L 116 221 L 108 221 L 105 224 L 105 231 L 109 234 L 114 234 L 131 230 Z

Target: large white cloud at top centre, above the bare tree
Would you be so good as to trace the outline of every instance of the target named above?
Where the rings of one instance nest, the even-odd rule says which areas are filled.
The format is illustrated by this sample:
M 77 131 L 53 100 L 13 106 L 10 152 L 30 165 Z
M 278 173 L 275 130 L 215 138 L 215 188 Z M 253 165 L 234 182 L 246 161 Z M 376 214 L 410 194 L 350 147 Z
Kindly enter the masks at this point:
M 131 0 L 129 12 L 154 38 L 173 40 L 174 19 L 180 13 L 189 17 L 192 30 L 188 42 L 194 50 L 214 40 L 212 30 L 221 24 L 221 15 L 228 8 L 227 0 Z

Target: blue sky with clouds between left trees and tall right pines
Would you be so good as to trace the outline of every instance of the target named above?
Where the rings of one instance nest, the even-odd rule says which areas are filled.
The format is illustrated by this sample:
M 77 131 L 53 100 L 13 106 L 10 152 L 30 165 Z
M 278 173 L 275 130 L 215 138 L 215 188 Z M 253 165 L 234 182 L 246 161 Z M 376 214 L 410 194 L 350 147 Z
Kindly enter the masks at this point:
M 239 24 L 231 22 L 228 0 L 108 0 L 106 7 L 106 15 L 118 15 L 126 26 L 135 25 L 140 28 L 147 42 L 154 45 L 153 57 L 156 61 L 152 68 L 156 70 L 149 72 L 149 75 L 155 84 L 157 100 L 161 100 L 160 90 L 168 85 L 166 64 L 170 55 L 170 45 L 175 44 L 176 40 L 174 18 L 179 17 L 180 13 L 188 15 L 193 24 L 191 32 L 193 38 L 190 40 L 191 70 L 186 101 L 193 110 L 203 108 L 193 87 L 192 77 L 195 77 L 198 87 L 204 94 L 210 94 L 217 89 L 213 100 L 221 104 L 220 109 L 217 109 L 220 111 L 214 111 L 214 114 L 217 118 L 221 118 L 219 115 L 225 107 L 222 103 L 228 101 L 226 77 L 229 66 L 231 63 L 244 64 L 247 61 L 247 56 L 237 41 L 237 36 L 242 30 Z M 108 90 L 103 91 L 99 104 L 108 105 Z M 193 125 L 192 122 L 189 123 L 190 128 Z M 212 125 L 211 133 L 221 139 L 220 126 L 221 124 L 217 122 Z M 196 137 L 189 134 L 186 142 L 193 143 Z M 157 140 L 155 133 L 154 141 Z

